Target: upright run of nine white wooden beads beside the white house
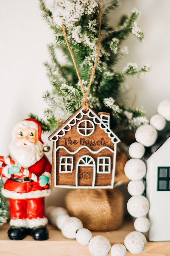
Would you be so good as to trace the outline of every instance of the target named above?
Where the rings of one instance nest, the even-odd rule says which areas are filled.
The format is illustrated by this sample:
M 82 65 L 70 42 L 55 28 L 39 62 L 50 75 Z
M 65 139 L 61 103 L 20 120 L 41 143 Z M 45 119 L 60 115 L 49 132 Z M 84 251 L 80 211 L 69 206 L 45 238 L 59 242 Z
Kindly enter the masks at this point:
M 149 202 L 146 197 L 141 195 L 143 193 L 143 186 L 141 185 L 141 161 L 143 160 L 141 158 L 145 152 L 143 147 L 152 146 L 157 139 L 157 131 L 164 129 L 166 120 L 170 121 L 170 100 L 160 102 L 157 112 L 157 115 L 151 117 L 150 124 L 141 125 L 136 130 L 135 138 L 137 142 L 132 143 L 129 147 L 129 155 L 132 159 L 125 164 L 124 169 L 125 175 L 131 180 L 128 184 L 128 192 L 132 197 L 127 203 L 127 209 L 129 214 L 136 218 L 134 222 L 136 231 L 129 233 L 124 240 L 126 249 L 131 253 L 143 251 L 146 246 L 146 238 L 142 233 L 147 232 L 150 227 L 150 222 L 145 217 L 149 211 Z M 136 170 L 138 169 L 141 176 L 137 177 Z

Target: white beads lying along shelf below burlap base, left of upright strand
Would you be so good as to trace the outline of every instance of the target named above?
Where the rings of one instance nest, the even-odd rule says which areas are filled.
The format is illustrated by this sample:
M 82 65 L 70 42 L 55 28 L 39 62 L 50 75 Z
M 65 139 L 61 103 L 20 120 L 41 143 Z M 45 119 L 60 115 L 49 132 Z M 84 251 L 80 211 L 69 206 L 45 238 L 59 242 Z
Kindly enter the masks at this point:
M 109 252 L 111 252 L 111 256 L 126 256 L 126 247 L 123 244 L 115 244 L 111 248 L 110 242 L 106 237 L 100 235 L 92 237 L 91 231 L 83 228 L 81 220 L 76 217 L 68 217 L 66 209 L 48 206 L 46 215 L 50 221 L 52 220 L 52 224 L 61 230 L 64 237 L 69 239 L 76 238 L 78 243 L 89 245 L 89 252 L 93 256 L 107 256 Z M 65 218 L 64 222 L 57 222 L 58 217 L 61 220 Z

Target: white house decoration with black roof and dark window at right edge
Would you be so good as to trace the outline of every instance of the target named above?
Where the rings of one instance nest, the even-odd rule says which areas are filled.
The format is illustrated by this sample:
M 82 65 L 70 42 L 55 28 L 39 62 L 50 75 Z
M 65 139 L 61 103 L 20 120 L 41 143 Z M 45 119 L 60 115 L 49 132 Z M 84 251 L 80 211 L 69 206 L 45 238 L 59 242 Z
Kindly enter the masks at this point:
M 170 241 L 170 122 L 146 148 L 146 198 L 150 209 L 149 241 Z

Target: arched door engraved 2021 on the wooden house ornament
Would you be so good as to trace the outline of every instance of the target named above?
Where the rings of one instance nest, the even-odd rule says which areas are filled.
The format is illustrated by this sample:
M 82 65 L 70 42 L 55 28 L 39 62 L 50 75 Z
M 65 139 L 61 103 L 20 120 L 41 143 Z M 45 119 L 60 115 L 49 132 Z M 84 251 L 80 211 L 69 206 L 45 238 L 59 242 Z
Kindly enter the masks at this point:
M 95 161 L 91 156 L 84 155 L 78 159 L 76 165 L 76 187 L 77 186 L 90 186 L 95 185 Z

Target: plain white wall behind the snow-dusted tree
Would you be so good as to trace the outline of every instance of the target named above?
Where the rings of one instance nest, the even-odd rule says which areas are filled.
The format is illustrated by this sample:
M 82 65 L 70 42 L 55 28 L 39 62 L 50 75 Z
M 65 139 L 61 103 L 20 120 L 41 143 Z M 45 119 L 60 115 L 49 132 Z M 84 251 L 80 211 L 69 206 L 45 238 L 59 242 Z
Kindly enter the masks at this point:
M 129 55 L 117 68 L 129 62 L 151 65 L 152 71 L 142 79 L 127 80 L 132 86 L 129 103 L 136 95 L 135 106 L 143 106 L 150 118 L 157 113 L 158 103 L 170 98 L 170 1 L 122 0 L 121 6 L 109 15 L 109 24 L 116 24 L 121 14 L 130 14 L 133 8 L 141 12 L 139 27 L 145 34 L 145 43 L 130 36 L 123 44 L 128 46 Z M 41 18 L 38 0 L 0 0 L 1 156 L 9 153 L 11 130 L 18 121 L 30 112 L 43 117 L 47 106 L 41 96 L 51 89 L 43 62 L 49 58 L 47 44 L 52 41 L 52 31 Z M 48 141 L 47 134 L 42 138 Z M 47 204 L 63 205 L 65 193 L 64 189 L 53 189 Z

